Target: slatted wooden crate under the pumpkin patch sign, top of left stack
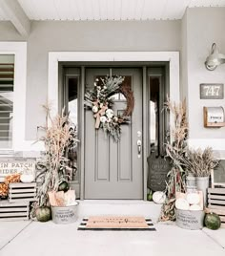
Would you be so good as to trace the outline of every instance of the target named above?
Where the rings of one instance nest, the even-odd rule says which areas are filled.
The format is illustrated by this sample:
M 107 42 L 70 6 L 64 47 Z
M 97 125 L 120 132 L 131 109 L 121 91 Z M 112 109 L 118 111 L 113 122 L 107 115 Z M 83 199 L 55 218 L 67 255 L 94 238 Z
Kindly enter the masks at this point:
M 36 200 L 36 182 L 31 183 L 10 183 L 9 202 L 33 202 Z

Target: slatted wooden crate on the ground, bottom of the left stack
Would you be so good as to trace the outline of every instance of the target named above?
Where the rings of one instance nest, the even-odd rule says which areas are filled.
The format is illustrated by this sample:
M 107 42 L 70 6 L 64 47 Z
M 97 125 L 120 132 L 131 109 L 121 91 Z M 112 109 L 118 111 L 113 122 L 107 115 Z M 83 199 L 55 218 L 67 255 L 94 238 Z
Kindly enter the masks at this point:
M 29 220 L 29 202 L 9 203 L 0 201 L 0 221 L 27 221 Z

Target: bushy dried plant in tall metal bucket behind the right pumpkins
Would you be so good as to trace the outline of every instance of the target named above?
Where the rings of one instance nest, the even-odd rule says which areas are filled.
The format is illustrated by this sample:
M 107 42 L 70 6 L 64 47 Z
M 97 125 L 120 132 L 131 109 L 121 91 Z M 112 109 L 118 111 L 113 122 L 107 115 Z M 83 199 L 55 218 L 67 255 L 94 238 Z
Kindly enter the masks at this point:
M 212 170 L 218 164 L 215 159 L 212 148 L 207 147 L 204 150 L 187 148 L 183 164 L 195 179 L 195 185 L 198 190 L 203 191 L 204 203 L 206 204 L 206 190 L 209 187 L 209 178 Z

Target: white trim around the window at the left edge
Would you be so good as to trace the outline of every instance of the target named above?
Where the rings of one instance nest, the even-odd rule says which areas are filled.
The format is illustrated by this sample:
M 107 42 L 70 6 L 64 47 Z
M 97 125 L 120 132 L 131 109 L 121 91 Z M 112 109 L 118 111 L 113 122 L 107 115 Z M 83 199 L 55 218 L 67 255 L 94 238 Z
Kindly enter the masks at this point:
M 0 54 L 14 54 L 14 98 L 11 149 L 18 151 L 21 150 L 25 141 L 27 42 L 0 42 Z

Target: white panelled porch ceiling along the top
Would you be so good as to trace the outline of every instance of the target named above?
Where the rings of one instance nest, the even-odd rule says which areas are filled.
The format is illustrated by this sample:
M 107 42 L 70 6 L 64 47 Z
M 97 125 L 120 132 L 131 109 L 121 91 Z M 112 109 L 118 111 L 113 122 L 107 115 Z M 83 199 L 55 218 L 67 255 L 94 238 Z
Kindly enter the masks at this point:
M 225 7 L 225 0 L 14 1 L 30 20 L 174 20 L 181 19 L 186 8 Z M 1 6 L 0 20 L 10 20 Z

